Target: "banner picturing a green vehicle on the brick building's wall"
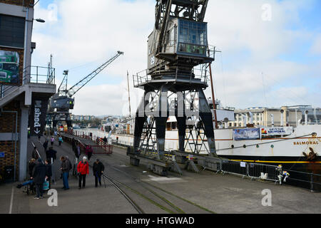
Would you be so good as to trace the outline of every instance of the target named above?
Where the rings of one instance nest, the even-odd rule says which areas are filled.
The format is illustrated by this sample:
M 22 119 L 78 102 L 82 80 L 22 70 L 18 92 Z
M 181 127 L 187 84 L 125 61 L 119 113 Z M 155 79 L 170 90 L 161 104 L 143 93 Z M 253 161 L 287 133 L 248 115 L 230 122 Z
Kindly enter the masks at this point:
M 0 50 L 0 83 L 19 82 L 19 53 Z

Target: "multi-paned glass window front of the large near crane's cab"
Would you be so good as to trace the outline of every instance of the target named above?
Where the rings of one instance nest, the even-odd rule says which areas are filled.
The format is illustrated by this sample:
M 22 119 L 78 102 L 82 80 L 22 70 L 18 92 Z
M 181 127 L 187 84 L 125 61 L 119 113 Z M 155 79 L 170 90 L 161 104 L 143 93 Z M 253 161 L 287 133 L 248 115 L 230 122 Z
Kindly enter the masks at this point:
M 207 45 L 207 24 L 178 20 L 178 52 L 205 56 Z

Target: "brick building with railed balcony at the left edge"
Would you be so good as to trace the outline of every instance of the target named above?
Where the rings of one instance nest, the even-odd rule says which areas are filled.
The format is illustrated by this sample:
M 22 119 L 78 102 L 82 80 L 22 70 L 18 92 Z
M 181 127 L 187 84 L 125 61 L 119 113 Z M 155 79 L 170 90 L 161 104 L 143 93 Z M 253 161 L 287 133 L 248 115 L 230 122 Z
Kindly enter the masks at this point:
M 53 71 L 44 80 L 31 66 L 33 23 L 34 0 L 0 0 L 0 175 L 12 167 L 20 181 L 26 178 L 33 101 L 56 93 Z

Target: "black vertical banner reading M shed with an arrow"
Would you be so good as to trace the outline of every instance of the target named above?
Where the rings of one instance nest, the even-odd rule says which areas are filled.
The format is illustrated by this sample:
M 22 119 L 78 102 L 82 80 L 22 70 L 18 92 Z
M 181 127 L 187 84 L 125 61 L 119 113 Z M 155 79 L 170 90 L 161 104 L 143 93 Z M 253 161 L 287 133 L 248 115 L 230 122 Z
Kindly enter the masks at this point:
M 32 100 L 29 115 L 30 134 L 32 136 L 43 135 L 44 133 L 48 103 L 48 98 L 33 98 Z

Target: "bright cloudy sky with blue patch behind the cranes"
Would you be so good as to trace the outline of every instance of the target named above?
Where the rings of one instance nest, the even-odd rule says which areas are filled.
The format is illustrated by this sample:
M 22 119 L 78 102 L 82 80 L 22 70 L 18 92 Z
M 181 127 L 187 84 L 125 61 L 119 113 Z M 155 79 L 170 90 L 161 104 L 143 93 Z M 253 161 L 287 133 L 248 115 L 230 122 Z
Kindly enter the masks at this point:
M 90 2 L 90 4 L 89 4 Z M 75 95 L 77 115 L 128 115 L 143 90 L 132 76 L 147 68 L 155 0 L 40 0 L 34 18 L 33 66 L 50 55 L 56 83 L 69 70 L 71 87 L 117 51 L 111 63 Z M 205 16 L 213 62 L 215 98 L 234 108 L 312 105 L 321 107 L 320 0 L 210 0 Z M 210 97 L 210 88 L 205 90 Z

